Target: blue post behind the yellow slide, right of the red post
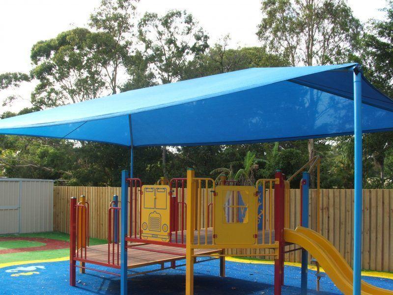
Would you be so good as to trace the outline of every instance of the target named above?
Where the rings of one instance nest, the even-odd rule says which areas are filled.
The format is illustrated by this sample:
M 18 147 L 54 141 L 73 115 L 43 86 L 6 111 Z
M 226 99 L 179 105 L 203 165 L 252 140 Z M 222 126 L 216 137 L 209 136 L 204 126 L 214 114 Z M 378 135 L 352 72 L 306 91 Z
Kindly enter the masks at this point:
M 310 175 L 308 172 L 303 172 L 302 180 L 302 226 L 309 227 L 309 186 Z M 301 293 L 307 294 L 307 276 L 308 276 L 309 253 L 302 249 L 302 278 L 301 278 Z

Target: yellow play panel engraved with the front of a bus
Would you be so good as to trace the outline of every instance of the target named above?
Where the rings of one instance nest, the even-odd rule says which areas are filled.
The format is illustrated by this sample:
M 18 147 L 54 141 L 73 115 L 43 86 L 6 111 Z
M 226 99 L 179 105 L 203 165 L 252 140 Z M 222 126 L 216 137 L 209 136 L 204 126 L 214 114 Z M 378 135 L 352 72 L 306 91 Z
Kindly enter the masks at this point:
M 143 185 L 140 211 L 141 238 L 169 241 L 169 186 Z

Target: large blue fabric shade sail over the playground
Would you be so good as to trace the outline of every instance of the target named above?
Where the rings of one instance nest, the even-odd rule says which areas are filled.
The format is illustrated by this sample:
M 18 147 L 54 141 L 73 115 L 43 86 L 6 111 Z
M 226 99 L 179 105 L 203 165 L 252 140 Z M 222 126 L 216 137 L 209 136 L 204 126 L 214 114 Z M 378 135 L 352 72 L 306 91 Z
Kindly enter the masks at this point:
M 355 63 L 251 68 L 0 120 L 0 134 L 198 146 L 353 134 Z M 393 130 L 393 100 L 362 76 L 364 132 Z

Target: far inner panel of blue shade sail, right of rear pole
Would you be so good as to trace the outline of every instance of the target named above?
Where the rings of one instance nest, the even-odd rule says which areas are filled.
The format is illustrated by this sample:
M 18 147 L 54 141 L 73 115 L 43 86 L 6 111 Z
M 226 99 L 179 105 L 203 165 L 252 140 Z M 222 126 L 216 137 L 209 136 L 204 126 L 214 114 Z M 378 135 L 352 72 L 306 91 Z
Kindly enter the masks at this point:
M 135 146 L 277 141 L 353 134 L 353 101 L 285 81 L 132 118 Z M 393 113 L 364 105 L 363 125 L 392 129 Z

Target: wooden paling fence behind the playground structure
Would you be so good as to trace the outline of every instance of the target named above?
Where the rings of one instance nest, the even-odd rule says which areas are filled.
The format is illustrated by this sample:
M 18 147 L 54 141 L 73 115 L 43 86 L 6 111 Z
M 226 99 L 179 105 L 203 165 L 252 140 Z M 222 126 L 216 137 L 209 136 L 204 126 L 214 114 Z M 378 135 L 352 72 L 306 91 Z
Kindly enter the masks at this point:
M 86 196 L 90 205 L 90 236 L 107 239 L 108 207 L 112 196 L 121 200 L 119 187 L 54 187 L 54 230 L 69 233 L 69 200 Z M 353 257 L 353 190 L 322 189 L 320 202 L 321 234 L 328 238 L 352 266 Z M 316 191 L 311 190 L 309 224 L 316 229 Z M 393 190 L 363 191 L 363 253 L 364 269 L 393 271 Z M 269 214 L 265 214 L 266 218 Z M 274 214 L 272 214 L 274 220 Z M 265 220 L 268 222 L 268 220 Z M 300 191 L 290 191 L 290 228 L 300 221 Z M 290 246 L 293 249 L 295 246 Z M 253 249 L 231 249 L 231 254 L 255 254 Z M 263 253 L 264 250 L 261 250 Z M 269 250 L 266 250 L 269 251 Z M 259 251 L 258 251 L 259 253 Z M 285 255 L 286 261 L 300 262 L 300 252 Z

